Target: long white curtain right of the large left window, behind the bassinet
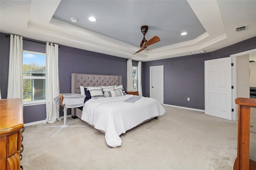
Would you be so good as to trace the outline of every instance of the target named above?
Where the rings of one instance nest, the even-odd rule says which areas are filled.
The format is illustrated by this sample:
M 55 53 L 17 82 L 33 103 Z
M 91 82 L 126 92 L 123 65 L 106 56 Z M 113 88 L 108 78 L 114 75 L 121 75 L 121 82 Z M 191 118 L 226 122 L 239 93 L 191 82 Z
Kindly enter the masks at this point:
M 60 120 L 60 105 L 56 105 L 54 98 L 60 93 L 58 44 L 46 43 L 46 119 L 44 123 Z

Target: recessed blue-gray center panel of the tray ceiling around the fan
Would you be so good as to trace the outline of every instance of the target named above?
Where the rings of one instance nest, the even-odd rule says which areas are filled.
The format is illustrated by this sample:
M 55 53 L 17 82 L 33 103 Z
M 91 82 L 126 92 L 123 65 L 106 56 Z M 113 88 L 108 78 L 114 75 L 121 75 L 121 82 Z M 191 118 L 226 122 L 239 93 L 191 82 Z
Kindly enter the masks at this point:
M 90 16 L 96 22 L 88 20 Z M 130 45 L 139 46 L 141 26 L 149 26 L 147 40 L 158 36 L 154 49 L 193 40 L 206 32 L 187 1 L 66 1 L 62 0 L 53 18 L 79 26 Z M 76 23 L 70 18 L 76 18 Z M 187 32 L 186 36 L 181 36 Z

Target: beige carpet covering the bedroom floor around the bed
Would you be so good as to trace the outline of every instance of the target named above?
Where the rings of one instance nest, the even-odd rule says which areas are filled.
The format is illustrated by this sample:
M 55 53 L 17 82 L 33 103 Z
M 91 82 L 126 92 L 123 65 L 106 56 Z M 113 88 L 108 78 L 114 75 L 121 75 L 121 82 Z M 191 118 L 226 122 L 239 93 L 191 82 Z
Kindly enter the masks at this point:
M 163 117 L 121 135 L 109 148 L 104 134 L 86 127 L 25 127 L 24 170 L 232 170 L 237 154 L 237 121 L 166 107 Z M 68 122 L 72 118 L 68 118 Z M 62 125 L 62 121 L 48 125 Z

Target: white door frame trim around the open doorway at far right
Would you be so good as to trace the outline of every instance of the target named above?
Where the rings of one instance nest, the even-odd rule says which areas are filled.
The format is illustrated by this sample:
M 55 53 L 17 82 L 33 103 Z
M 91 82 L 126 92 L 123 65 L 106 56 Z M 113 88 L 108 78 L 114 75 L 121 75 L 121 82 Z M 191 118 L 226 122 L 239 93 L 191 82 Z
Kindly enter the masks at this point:
M 256 49 L 251 49 L 248 51 L 244 51 L 241 53 L 236 53 L 230 55 L 231 62 L 234 64 L 232 67 L 232 85 L 234 86 L 234 89 L 232 90 L 232 108 L 234 108 L 234 112 L 232 113 L 232 121 L 238 120 L 238 106 L 236 105 L 235 99 L 236 99 L 236 57 L 241 55 L 246 55 L 250 53 L 256 53 Z

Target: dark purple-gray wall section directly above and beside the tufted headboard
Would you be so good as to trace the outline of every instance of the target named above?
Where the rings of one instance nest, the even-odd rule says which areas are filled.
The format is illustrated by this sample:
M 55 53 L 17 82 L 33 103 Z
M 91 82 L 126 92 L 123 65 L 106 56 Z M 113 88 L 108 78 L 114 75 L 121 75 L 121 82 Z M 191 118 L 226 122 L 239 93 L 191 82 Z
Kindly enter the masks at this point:
M 60 93 L 71 93 L 71 73 L 122 75 L 126 89 L 127 59 L 67 46 L 59 49 Z

